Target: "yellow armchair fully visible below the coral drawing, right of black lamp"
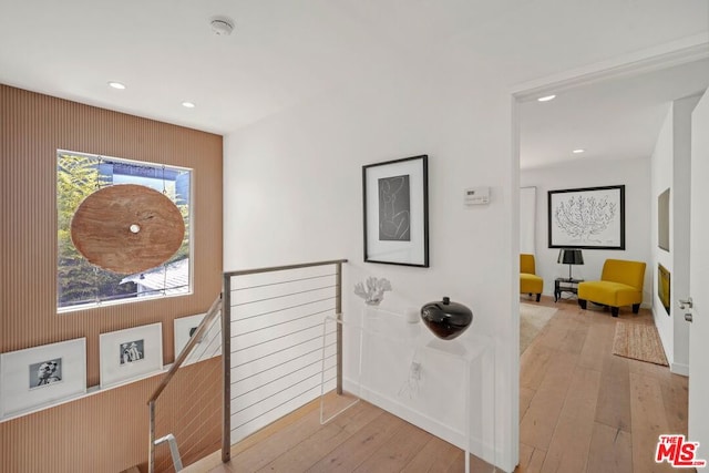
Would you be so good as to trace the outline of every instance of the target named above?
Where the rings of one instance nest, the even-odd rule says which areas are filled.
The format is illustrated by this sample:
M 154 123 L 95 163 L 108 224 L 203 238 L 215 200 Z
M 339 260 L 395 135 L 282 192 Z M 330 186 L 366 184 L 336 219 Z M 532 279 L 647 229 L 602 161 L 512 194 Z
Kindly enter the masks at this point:
M 578 284 L 578 305 L 586 309 L 586 301 L 610 308 L 613 317 L 618 317 L 618 308 L 633 306 L 638 313 L 643 302 L 645 263 L 625 259 L 606 259 L 599 281 Z

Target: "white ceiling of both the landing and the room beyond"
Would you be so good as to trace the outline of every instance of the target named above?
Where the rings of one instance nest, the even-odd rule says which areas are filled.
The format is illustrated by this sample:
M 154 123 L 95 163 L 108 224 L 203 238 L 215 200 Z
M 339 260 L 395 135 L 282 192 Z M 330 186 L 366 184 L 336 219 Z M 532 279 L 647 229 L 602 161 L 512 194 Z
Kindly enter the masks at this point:
M 235 20 L 232 35 L 212 32 L 216 16 Z M 226 134 L 422 69 L 512 86 L 708 31 L 706 0 L 0 0 L 0 83 Z M 523 165 L 578 146 L 647 155 L 660 102 L 706 86 L 706 72 L 525 104 Z

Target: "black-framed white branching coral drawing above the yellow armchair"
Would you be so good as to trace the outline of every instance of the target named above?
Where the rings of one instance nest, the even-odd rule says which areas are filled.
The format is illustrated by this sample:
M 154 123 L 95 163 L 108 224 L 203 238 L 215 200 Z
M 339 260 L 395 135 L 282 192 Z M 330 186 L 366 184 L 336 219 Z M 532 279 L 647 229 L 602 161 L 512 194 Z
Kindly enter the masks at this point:
M 625 186 L 549 191 L 548 247 L 625 249 Z

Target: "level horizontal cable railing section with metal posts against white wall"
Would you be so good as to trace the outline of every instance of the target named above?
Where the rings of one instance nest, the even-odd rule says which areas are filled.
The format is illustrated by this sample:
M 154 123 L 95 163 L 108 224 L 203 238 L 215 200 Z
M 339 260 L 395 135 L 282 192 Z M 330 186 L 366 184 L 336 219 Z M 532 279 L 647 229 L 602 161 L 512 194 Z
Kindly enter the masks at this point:
M 233 443 L 319 397 L 323 371 L 341 389 L 341 331 L 323 350 L 322 321 L 341 311 L 346 261 L 224 274 L 224 462 Z

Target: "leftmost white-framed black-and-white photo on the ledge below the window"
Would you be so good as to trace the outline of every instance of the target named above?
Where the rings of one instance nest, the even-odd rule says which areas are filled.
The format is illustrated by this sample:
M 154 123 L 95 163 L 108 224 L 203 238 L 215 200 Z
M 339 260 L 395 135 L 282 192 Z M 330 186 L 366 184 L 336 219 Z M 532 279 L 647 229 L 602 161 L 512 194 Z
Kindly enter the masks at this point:
M 0 414 L 52 405 L 86 392 L 86 339 L 0 354 Z

